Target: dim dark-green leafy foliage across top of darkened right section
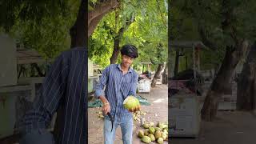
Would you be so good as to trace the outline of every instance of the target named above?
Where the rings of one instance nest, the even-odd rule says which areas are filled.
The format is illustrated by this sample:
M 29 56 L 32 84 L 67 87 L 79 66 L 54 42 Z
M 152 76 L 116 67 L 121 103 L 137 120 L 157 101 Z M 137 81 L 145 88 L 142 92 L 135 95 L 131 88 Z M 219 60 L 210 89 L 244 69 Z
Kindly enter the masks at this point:
M 226 46 L 235 45 L 234 35 L 238 39 L 254 41 L 255 6 L 256 2 L 253 0 L 172 1 L 170 39 L 202 40 L 198 29 L 201 25 L 205 33 L 203 38 L 207 38 L 217 47 L 212 50 L 213 47 L 208 46 L 208 50 L 201 52 L 201 68 L 208 70 L 221 64 Z M 174 57 L 174 53 L 170 57 Z

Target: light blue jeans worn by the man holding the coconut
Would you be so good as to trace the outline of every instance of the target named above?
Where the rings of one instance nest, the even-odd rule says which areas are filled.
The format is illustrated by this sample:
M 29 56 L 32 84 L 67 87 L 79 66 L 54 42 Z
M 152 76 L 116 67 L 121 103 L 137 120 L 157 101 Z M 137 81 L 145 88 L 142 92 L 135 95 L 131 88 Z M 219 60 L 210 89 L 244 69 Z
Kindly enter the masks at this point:
M 132 144 L 133 139 L 133 118 L 130 118 L 128 122 L 116 123 L 114 122 L 113 130 L 111 132 L 112 124 L 109 118 L 104 119 L 104 144 L 114 144 L 115 130 L 118 126 L 121 126 L 122 130 L 122 142 L 123 144 Z

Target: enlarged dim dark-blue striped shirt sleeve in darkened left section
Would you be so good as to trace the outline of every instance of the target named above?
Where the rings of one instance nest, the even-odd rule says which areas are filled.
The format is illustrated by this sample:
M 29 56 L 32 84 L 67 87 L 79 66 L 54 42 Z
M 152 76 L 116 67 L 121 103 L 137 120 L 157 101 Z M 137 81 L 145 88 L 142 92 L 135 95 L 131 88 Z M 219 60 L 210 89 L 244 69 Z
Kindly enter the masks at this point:
M 70 67 L 68 59 L 69 54 L 62 53 L 50 66 L 32 109 L 26 112 L 19 123 L 18 129 L 22 133 L 46 129 L 50 125 L 51 118 L 66 91 L 66 78 Z

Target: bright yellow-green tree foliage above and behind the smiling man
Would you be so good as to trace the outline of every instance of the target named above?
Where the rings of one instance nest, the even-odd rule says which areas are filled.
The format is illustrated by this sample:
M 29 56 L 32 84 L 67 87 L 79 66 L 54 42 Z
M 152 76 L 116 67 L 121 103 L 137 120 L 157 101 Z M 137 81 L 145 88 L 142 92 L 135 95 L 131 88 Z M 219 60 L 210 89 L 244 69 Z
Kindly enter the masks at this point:
M 167 61 L 167 7 L 166 1 L 121 1 L 118 10 L 107 14 L 98 24 L 89 41 L 90 58 L 102 65 L 110 64 L 114 38 L 124 27 L 120 46 L 130 43 L 138 47 L 139 62 L 158 63 Z M 131 22 L 127 25 L 127 22 Z M 120 61 L 120 59 L 119 59 Z

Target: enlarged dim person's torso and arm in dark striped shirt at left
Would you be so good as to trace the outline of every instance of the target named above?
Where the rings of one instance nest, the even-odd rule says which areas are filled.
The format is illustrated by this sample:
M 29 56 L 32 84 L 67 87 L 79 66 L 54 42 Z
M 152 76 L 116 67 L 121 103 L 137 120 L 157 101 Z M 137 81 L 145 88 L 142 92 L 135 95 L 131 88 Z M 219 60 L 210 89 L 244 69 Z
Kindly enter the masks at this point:
M 87 61 L 84 47 L 67 50 L 56 58 L 33 108 L 18 122 L 20 144 L 87 143 Z M 62 111 L 53 135 L 47 129 L 57 110 Z

